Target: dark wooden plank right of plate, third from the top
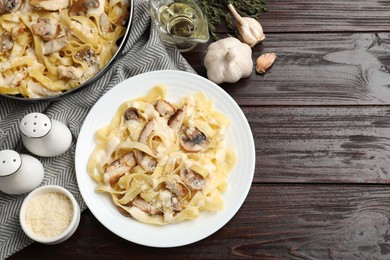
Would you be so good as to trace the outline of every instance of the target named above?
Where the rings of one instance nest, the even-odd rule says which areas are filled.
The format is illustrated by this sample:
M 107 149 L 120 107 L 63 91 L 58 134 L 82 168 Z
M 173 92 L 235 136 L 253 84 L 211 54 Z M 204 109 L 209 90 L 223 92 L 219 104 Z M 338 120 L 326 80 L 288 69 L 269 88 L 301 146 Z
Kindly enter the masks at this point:
M 242 109 L 255 140 L 255 182 L 390 182 L 389 107 Z

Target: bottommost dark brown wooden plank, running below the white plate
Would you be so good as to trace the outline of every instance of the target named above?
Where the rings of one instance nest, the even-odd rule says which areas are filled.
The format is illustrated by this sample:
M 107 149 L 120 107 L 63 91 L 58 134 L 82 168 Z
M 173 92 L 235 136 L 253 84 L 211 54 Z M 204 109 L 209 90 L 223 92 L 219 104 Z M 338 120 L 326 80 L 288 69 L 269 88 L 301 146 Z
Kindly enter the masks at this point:
M 253 185 L 227 225 L 185 247 L 136 245 L 86 210 L 69 240 L 44 250 L 35 243 L 9 259 L 389 259 L 389 207 L 387 186 Z

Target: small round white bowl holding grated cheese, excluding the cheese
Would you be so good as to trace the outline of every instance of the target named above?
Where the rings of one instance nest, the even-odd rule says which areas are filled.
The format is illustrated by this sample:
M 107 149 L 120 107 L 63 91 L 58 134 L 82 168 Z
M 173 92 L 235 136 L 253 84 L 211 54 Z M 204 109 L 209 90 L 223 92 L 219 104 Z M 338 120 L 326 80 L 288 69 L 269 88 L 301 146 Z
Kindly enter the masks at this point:
M 36 198 L 38 195 L 44 195 L 46 193 L 59 193 L 65 195 L 71 202 L 71 207 L 72 207 L 72 217 L 70 220 L 69 225 L 67 228 L 65 228 L 64 231 L 62 231 L 58 235 L 54 236 L 43 236 L 39 235 L 36 232 L 33 231 L 32 227 L 27 223 L 26 219 L 26 213 L 27 209 L 30 203 L 33 203 L 32 200 Z M 44 196 L 49 196 L 44 195 Z M 48 207 L 50 206 L 50 203 L 41 203 L 41 205 L 47 205 Z M 43 207 L 45 207 L 43 206 Z M 57 205 L 56 208 L 59 206 Z M 47 208 L 45 208 L 46 210 Z M 47 216 L 47 215 L 46 215 Z M 20 208 L 20 214 L 19 214 L 19 221 L 20 225 L 22 226 L 22 229 L 24 233 L 30 237 L 32 240 L 42 243 L 42 244 L 47 244 L 47 245 L 54 245 L 58 244 L 61 242 L 64 242 L 67 240 L 69 237 L 73 235 L 73 233 L 76 231 L 79 223 L 80 223 L 80 206 L 78 205 L 76 199 L 73 197 L 73 195 L 65 188 L 57 185 L 46 185 L 46 186 L 41 186 L 35 190 L 33 190 L 23 201 L 22 207 Z M 41 227 L 45 227 L 45 224 L 43 223 L 38 223 L 40 220 L 35 219 L 34 223 L 37 225 L 41 225 Z M 52 222 L 51 222 L 52 223 Z

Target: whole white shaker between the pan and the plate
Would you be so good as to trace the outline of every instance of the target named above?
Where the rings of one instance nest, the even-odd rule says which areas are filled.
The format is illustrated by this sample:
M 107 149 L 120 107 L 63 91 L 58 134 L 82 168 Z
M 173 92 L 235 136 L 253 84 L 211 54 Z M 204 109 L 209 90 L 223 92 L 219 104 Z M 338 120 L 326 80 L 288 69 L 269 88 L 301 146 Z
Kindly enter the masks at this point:
M 38 156 L 58 156 L 72 143 L 72 134 L 62 122 L 42 113 L 30 113 L 20 122 L 24 146 Z

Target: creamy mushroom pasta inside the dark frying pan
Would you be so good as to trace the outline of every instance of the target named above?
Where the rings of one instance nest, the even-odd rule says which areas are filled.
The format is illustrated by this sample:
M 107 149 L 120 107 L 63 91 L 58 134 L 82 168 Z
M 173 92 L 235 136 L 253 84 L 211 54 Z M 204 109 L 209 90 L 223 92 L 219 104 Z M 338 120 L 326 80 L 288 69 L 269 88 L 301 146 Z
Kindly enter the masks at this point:
M 0 0 L 0 93 L 26 98 L 78 87 L 113 57 L 129 0 Z

